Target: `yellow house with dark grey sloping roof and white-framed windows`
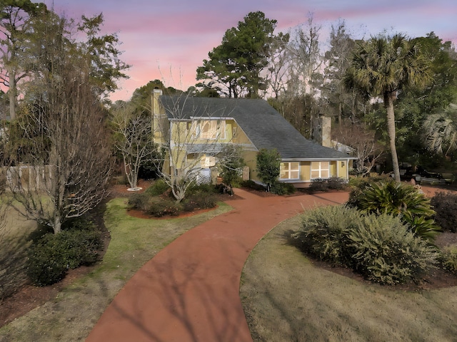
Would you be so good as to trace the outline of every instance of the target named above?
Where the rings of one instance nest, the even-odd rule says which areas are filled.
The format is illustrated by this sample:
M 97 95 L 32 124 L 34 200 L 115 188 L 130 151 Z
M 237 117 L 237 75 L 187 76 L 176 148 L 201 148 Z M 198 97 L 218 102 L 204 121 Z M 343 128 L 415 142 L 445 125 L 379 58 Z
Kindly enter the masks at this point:
M 199 170 L 216 177 L 217 155 L 224 144 L 243 147 L 245 177 L 258 181 L 256 154 L 276 148 L 281 182 L 307 187 L 316 178 L 348 178 L 350 155 L 307 140 L 265 100 L 153 95 L 154 140 L 169 146 L 164 167 L 176 175 Z

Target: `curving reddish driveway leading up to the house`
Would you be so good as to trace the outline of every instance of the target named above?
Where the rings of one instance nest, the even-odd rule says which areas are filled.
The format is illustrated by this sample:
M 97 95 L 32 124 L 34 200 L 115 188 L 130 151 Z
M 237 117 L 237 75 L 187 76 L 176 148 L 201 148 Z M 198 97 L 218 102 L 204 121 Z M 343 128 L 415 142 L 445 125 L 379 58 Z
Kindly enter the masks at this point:
M 303 209 L 345 202 L 343 192 L 258 197 L 191 229 L 119 291 L 86 342 L 252 341 L 238 296 L 243 264 L 263 235 Z

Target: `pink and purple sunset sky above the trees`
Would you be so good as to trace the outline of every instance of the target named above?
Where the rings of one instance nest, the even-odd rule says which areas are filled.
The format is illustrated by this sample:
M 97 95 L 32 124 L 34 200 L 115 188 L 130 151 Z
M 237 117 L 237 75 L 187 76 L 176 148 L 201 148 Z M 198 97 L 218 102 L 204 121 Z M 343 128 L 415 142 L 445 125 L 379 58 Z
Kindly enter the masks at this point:
M 39 1 L 36 1 L 39 2 Z M 80 19 L 103 13 L 104 33 L 122 42 L 122 61 L 131 65 L 111 100 L 129 100 L 136 88 L 159 79 L 187 90 L 196 83 L 196 68 L 221 44 L 226 30 L 252 11 L 277 21 L 276 31 L 321 25 L 322 43 L 331 24 L 343 19 L 353 38 L 382 31 L 414 38 L 431 31 L 457 45 L 455 0 L 41 0 L 58 14 Z

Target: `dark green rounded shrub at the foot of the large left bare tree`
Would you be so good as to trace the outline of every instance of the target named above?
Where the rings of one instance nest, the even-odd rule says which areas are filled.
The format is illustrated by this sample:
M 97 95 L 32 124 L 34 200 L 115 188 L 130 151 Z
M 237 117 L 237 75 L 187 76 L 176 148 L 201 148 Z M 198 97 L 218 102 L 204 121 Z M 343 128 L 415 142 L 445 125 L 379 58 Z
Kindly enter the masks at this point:
M 29 249 L 27 276 L 36 286 L 54 284 L 64 279 L 68 269 L 94 264 L 100 247 L 100 233 L 94 230 L 47 233 Z

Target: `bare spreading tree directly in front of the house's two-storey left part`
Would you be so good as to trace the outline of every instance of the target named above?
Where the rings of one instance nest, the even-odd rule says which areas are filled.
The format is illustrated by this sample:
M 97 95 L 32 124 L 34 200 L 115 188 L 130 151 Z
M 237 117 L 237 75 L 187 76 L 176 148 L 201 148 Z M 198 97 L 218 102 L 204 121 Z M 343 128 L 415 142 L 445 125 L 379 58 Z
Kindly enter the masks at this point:
M 153 110 L 154 140 L 164 150 L 161 177 L 177 202 L 202 177 L 202 168 L 216 165 L 222 142 L 229 142 L 224 117 L 230 109 L 213 108 L 212 100 L 189 95 L 162 97 L 165 112 Z

